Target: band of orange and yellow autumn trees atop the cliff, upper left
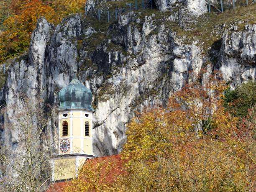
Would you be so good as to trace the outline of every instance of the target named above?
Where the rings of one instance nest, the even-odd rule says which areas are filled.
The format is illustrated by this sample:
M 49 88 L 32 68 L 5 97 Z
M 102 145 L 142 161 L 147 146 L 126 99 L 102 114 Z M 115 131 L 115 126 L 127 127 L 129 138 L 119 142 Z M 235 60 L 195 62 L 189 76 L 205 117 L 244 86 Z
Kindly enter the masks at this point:
M 23 53 L 29 46 L 31 33 L 38 18 L 44 16 L 49 22 L 58 24 L 70 13 L 81 12 L 85 0 L 12 0 L 13 15 L 3 23 L 0 34 L 0 63 Z

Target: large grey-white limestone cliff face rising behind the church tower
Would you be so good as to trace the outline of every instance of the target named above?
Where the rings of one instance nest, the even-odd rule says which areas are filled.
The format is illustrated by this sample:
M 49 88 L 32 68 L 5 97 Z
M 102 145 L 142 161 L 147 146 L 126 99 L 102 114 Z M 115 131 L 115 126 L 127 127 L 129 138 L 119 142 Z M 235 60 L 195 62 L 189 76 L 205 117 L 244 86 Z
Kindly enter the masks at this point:
M 191 6 L 195 3 L 186 2 Z M 201 2 L 204 13 L 205 3 L 197 2 Z M 166 106 L 169 96 L 186 82 L 197 81 L 202 66 L 207 65 L 200 47 L 184 44 L 171 28 L 155 24 L 154 19 L 154 14 L 141 18 L 140 13 L 127 13 L 111 24 L 101 39 L 93 37 L 102 36 L 102 32 L 78 14 L 56 27 L 39 19 L 28 54 L 13 60 L 0 92 L 1 102 L 10 108 L 4 122 L 15 115 L 10 106 L 18 108 L 21 93 L 35 102 L 39 96 L 46 103 L 58 105 L 59 90 L 70 82 L 73 70 L 79 69 L 80 81 L 93 93 L 94 154 L 119 153 L 126 140 L 126 124 L 134 112 L 146 106 Z M 100 41 L 93 49 L 96 43 L 92 39 Z M 227 31 L 215 53 L 218 63 L 207 65 L 208 73 L 220 69 L 233 86 L 254 80 L 255 44 L 255 25 L 248 25 L 245 31 Z M 56 119 L 52 119 L 47 134 L 53 141 L 56 126 Z M 2 129 L 1 142 L 15 148 L 20 141 L 13 131 Z

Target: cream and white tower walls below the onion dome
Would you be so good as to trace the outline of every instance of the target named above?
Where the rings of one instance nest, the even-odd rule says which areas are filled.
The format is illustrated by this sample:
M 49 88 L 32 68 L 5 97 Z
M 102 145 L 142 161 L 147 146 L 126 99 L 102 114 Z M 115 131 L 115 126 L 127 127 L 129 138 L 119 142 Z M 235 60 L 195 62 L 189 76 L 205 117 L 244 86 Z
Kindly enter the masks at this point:
M 86 114 L 86 115 L 85 115 Z M 62 123 L 67 121 L 68 134 L 62 135 Z M 85 136 L 85 122 L 89 122 L 89 136 Z M 60 143 L 63 139 L 70 142 L 69 151 L 66 153 L 60 150 Z M 52 180 L 71 179 L 76 177 L 78 170 L 88 158 L 82 155 L 93 155 L 92 151 L 92 112 L 87 110 L 64 110 L 59 111 L 59 155 L 52 159 L 53 175 Z

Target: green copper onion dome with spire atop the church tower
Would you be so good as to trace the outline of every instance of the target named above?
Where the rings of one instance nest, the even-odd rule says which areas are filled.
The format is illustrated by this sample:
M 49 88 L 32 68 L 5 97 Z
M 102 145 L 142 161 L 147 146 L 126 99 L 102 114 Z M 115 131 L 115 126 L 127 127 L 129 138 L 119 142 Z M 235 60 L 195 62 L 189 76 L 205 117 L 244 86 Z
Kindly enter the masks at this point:
M 79 80 L 76 78 L 76 70 L 74 73 L 74 79 L 72 79 L 67 87 L 63 87 L 59 92 L 59 110 L 86 109 L 94 111 L 91 105 L 91 90 L 84 87 L 84 85 L 79 82 Z

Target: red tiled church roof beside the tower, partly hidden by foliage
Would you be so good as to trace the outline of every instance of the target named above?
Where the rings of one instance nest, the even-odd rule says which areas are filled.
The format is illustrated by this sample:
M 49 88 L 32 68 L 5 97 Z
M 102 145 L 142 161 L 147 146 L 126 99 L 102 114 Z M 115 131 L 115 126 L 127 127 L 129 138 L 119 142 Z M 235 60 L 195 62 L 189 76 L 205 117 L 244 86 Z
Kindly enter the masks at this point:
M 105 182 L 111 184 L 114 182 L 115 180 L 115 176 L 120 175 L 120 174 L 124 174 L 125 171 L 123 170 L 123 160 L 121 159 L 121 155 L 111 155 L 111 156 L 104 156 L 104 157 L 98 157 L 98 158 L 94 158 L 94 159 L 89 159 L 87 161 L 93 161 L 95 163 L 99 163 L 99 162 L 111 162 L 113 163 L 113 168 L 111 168 L 110 172 L 107 174 L 106 178 L 105 178 Z M 87 163 L 87 161 L 85 161 L 84 164 Z M 49 189 L 47 190 L 47 192 L 63 192 L 64 188 L 66 186 L 69 185 L 71 181 L 62 181 L 62 182 L 55 182 L 54 184 L 52 184 Z

